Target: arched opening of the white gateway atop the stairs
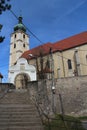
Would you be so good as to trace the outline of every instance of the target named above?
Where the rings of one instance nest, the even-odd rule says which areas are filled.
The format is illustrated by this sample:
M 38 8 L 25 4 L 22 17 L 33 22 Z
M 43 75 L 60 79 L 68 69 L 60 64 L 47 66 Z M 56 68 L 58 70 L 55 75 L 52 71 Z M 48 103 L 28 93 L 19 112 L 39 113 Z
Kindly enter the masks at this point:
M 30 81 L 30 77 L 26 73 L 20 73 L 15 77 L 15 86 L 17 89 L 26 89 L 27 82 Z

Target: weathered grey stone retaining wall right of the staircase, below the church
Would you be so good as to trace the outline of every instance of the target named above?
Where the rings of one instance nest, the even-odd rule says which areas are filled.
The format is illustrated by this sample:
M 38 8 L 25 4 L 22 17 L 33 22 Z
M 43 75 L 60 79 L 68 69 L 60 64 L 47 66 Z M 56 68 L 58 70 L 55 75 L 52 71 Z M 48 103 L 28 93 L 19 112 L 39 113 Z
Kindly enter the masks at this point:
M 44 110 L 62 113 L 63 108 L 65 114 L 87 115 L 87 76 L 56 79 L 55 94 L 52 94 L 51 84 L 51 80 L 28 83 L 30 96 L 36 96 Z

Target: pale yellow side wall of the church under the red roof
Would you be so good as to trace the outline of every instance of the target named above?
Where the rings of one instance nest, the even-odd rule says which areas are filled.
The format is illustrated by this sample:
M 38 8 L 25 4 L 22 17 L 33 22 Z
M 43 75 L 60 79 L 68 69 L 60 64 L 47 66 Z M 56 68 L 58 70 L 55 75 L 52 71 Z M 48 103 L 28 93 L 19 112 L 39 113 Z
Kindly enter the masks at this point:
M 54 76 L 55 78 L 61 77 L 72 77 L 75 76 L 76 70 L 76 61 L 75 61 L 75 52 L 78 51 L 78 57 L 80 60 L 80 73 L 79 75 L 87 75 L 87 45 L 79 46 L 76 48 L 68 49 L 63 52 L 55 52 L 53 53 L 54 60 Z M 43 57 L 44 67 L 46 65 L 47 59 L 51 59 L 50 54 Z M 68 59 L 71 60 L 72 69 L 68 68 Z M 38 66 L 40 68 L 40 58 L 37 58 Z M 52 62 L 51 62 L 52 63 Z M 36 60 L 29 60 L 29 64 L 36 65 Z

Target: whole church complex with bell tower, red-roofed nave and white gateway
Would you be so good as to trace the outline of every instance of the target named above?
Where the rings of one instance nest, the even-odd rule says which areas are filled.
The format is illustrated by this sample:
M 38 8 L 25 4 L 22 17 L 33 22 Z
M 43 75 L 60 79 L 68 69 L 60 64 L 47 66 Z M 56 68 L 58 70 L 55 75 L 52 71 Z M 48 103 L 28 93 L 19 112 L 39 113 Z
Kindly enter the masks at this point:
M 9 83 L 17 89 L 28 81 L 87 75 L 87 32 L 54 43 L 29 47 L 26 27 L 19 17 L 11 34 Z

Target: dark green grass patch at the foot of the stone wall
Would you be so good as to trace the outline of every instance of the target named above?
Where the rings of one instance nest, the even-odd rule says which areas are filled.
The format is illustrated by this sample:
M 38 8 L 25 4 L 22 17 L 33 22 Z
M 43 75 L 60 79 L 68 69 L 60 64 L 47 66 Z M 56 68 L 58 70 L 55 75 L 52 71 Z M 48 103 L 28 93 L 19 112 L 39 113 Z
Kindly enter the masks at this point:
M 45 130 L 85 130 L 81 121 L 72 116 L 57 114 L 55 118 L 45 121 Z

